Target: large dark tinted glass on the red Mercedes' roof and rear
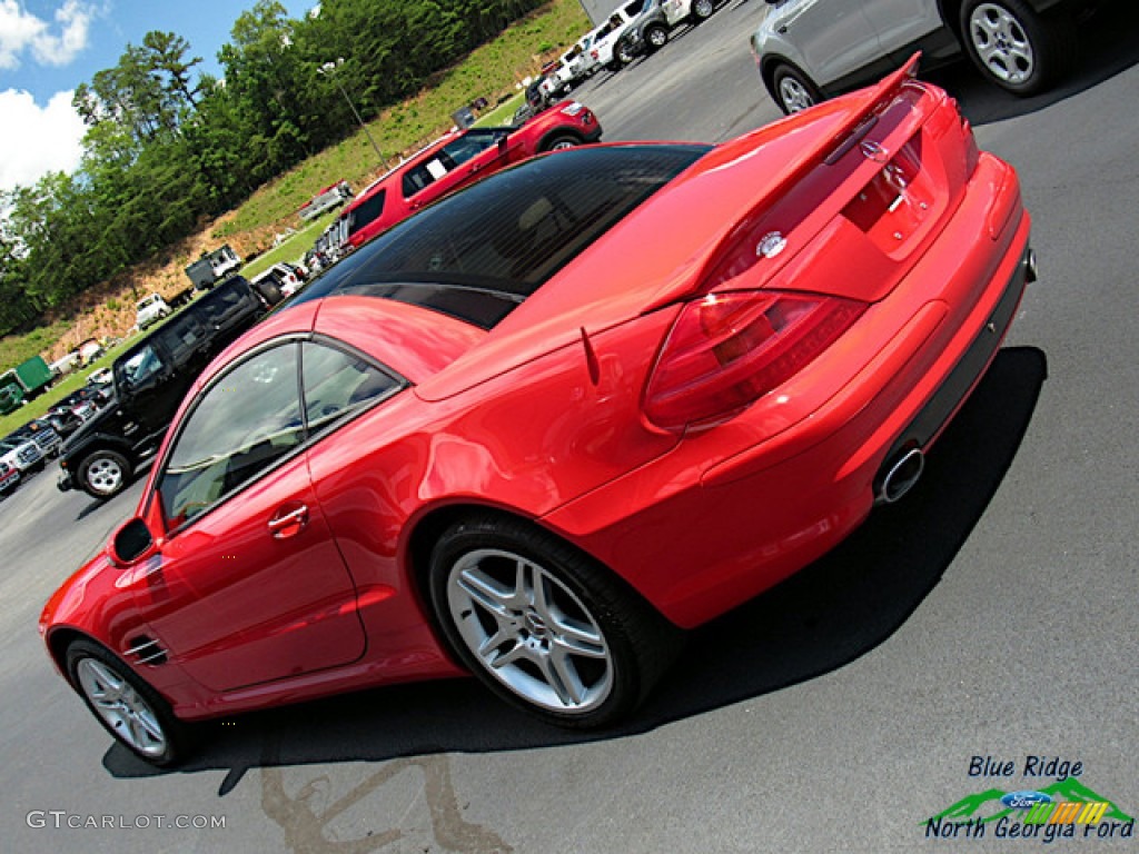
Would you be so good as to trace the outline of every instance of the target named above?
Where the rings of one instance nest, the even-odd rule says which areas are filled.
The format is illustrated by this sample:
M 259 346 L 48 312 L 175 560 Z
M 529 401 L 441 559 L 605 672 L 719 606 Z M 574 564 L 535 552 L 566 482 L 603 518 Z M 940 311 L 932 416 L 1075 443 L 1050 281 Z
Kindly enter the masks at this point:
M 385 232 L 297 302 L 367 294 L 490 328 L 707 150 L 589 147 L 527 161 Z

